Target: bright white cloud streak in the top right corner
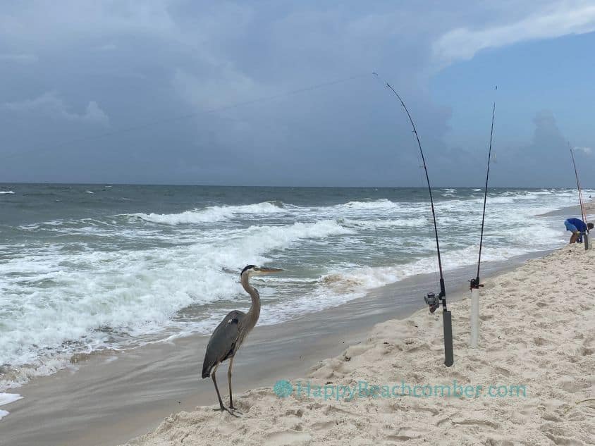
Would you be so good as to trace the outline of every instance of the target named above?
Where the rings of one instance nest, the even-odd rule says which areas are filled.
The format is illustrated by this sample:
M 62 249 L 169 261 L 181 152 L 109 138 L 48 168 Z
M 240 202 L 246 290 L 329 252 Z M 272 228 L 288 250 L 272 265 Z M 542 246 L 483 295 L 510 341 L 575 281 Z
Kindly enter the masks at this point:
M 469 60 L 482 49 L 593 31 L 595 5 L 591 3 L 570 6 L 567 3 L 565 6 L 547 8 L 514 23 L 486 27 L 482 30 L 455 28 L 434 42 L 432 51 L 436 63 L 443 67 L 454 61 Z

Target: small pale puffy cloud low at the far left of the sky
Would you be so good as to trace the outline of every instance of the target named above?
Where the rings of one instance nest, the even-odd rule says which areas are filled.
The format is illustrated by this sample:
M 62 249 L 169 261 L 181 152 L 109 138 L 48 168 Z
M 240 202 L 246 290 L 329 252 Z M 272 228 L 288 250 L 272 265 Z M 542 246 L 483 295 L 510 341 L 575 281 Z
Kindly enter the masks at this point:
M 97 102 L 90 101 L 84 113 L 73 113 L 68 111 L 68 106 L 56 92 L 47 92 L 35 99 L 25 99 L 18 102 L 6 102 L 2 105 L 6 110 L 22 113 L 41 113 L 54 119 L 97 123 L 108 125 L 109 118 L 99 108 Z

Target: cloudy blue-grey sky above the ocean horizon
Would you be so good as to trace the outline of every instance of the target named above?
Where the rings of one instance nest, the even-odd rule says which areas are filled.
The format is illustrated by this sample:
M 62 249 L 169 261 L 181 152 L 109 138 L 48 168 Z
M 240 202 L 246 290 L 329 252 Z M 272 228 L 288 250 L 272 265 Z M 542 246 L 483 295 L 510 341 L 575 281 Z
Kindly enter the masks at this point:
M 595 187 L 595 1 L 3 1 L 0 182 Z M 372 75 L 379 73 L 379 78 Z M 495 86 L 498 89 L 495 89 Z

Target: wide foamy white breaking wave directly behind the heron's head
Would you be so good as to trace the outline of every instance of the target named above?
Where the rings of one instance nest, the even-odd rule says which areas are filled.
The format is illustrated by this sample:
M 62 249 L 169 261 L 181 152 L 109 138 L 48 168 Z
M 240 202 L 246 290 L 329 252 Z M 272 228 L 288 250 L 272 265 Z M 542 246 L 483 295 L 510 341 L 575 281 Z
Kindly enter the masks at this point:
M 352 233 L 323 220 L 253 225 L 166 249 L 57 254 L 47 247 L 51 255 L 25 252 L 0 264 L 0 275 L 26 275 L 30 284 L 23 292 L 16 279 L 7 280 L 4 295 L 13 299 L 4 303 L 6 308 L 31 309 L 3 321 L 0 364 L 11 364 L 13 370 L 0 380 L 0 388 L 55 373 L 68 366 L 73 354 L 115 348 L 114 333 L 116 342 L 135 346 L 142 339 L 160 338 L 180 309 L 242 295 L 236 274 L 226 271 L 238 270 L 247 259 L 264 264 L 267 253 L 301 240 Z M 48 280 L 52 287 L 35 285 Z

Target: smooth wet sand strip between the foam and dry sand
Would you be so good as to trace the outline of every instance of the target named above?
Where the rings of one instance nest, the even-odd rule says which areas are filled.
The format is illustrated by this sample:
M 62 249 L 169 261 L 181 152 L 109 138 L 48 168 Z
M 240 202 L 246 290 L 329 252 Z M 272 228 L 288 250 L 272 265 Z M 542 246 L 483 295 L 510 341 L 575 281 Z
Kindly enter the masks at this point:
M 485 264 L 484 275 L 501 274 L 544 254 Z M 448 302 L 465 297 L 472 268 L 448 271 Z M 235 361 L 235 395 L 304 376 L 312 364 L 364 342 L 377 323 L 407 318 L 424 307 L 422 297 L 435 282 L 434 274 L 417 275 L 331 309 L 257 326 Z M 200 379 L 207 340 L 191 335 L 125 352 L 99 352 L 81 361 L 76 371 L 36 378 L 15 390 L 23 399 L 6 407 L 11 414 L 0 421 L 0 432 L 23 446 L 41 440 L 47 446 L 113 446 L 156 428 L 172 412 L 214 404 L 211 381 Z M 219 372 L 220 380 L 225 374 Z

